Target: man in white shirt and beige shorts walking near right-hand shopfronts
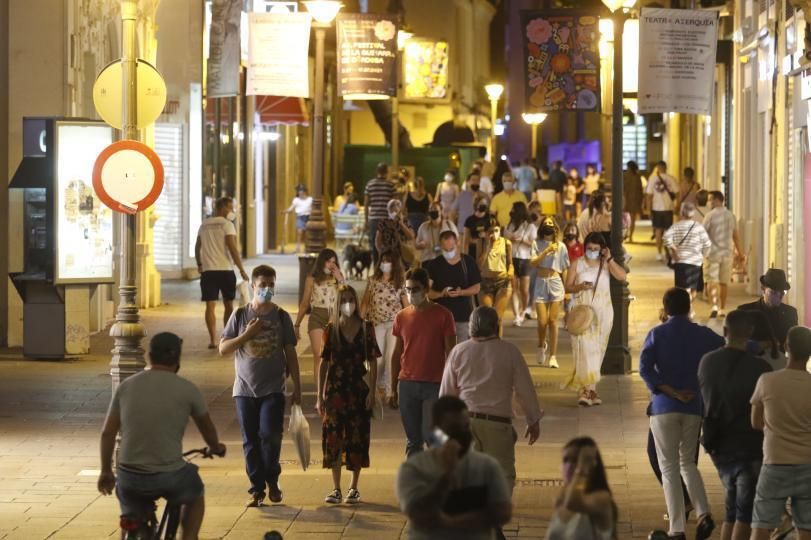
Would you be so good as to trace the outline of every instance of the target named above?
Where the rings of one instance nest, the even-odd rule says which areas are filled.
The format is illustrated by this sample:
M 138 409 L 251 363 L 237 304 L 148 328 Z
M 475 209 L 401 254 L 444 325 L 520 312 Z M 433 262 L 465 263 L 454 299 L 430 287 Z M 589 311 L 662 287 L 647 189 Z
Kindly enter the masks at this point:
M 704 217 L 703 225 L 711 245 L 704 273 L 712 302 L 710 318 L 714 319 L 718 316 L 724 317 L 726 314 L 732 265 L 733 262 L 743 261 L 744 254 L 737 220 L 724 206 L 724 194 L 720 191 L 711 191 L 709 199 L 712 210 Z

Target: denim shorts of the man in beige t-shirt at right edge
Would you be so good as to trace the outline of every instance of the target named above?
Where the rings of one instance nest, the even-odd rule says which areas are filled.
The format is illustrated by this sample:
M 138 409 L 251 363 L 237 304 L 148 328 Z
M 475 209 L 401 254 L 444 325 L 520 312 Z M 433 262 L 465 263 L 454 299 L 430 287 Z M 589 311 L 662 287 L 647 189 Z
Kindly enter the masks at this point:
M 778 527 L 789 497 L 794 526 L 811 530 L 811 465 L 763 465 L 755 493 L 752 528 Z

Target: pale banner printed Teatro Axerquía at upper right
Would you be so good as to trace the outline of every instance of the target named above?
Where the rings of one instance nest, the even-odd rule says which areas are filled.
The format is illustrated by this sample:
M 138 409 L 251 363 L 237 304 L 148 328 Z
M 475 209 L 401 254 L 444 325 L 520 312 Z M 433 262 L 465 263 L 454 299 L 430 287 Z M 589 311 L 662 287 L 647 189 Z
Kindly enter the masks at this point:
M 717 46 L 717 12 L 642 8 L 639 112 L 710 114 Z

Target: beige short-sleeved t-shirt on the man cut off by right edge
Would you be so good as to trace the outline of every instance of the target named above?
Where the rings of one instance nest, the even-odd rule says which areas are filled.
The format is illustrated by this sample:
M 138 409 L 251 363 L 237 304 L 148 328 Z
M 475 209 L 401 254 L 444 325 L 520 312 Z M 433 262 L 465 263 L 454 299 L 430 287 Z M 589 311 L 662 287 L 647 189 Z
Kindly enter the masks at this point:
M 799 369 L 764 373 L 752 404 L 763 406 L 763 463 L 811 464 L 811 374 Z

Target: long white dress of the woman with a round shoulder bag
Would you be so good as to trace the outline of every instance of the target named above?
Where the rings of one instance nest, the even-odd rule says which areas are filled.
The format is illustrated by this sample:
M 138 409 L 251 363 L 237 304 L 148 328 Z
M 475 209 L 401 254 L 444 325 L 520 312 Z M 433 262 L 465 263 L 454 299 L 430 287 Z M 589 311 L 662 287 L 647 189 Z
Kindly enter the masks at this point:
M 568 388 L 579 390 L 587 387 L 594 389 L 600 380 L 600 367 L 608 348 L 608 335 L 614 324 L 614 308 L 611 306 L 611 289 L 608 267 L 604 264 L 597 281 L 598 266 L 589 266 L 585 257 L 575 263 L 577 269 L 576 284 L 590 281 L 594 290 L 581 291 L 574 296 L 573 305 L 591 304 L 595 317 L 591 326 L 579 336 L 572 336 L 572 353 L 574 355 L 574 373 L 566 384 Z M 594 301 L 591 297 L 594 294 Z

